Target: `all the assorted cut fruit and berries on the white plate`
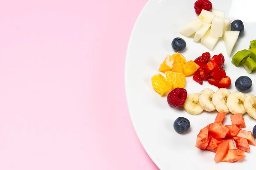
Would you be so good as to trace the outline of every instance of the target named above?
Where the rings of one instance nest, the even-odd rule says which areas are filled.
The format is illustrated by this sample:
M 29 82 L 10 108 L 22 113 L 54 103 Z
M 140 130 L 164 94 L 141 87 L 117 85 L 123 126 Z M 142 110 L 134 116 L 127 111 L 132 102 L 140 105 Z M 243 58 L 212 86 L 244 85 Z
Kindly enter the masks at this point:
M 227 52 L 224 55 L 229 57 L 239 36 L 244 34 L 243 22 L 227 19 L 225 11 L 212 8 L 209 0 L 197 0 L 194 8 L 198 18 L 185 23 L 179 33 L 185 37 L 194 34 L 193 42 L 201 41 L 210 51 L 223 37 Z M 256 125 L 252 132 L 242 129 L 246 127 L 245 113 L 256 119 L 256 96 L 244 94 L 252 88 L 252 79 L 238 77 L 234 83 L 237 91 L 230 92 L 228 88 L 233 81 L 224 70 L 224 55 L 220 53 L 211 57 L 209 52 L 204 52 L 194 60 L 187 61 L 181 54 L 187 45 L 183 38 L 175 37 L 172 40 L 172 49 L 176 53 L 167 55 L 159 63 L 160 73 L 151 78 L 154 91 L 167 96 L 170 107 L 183 108 L 191 115 L 217 111 L 215 121 L 198 133 L 195 147 L 214 152 L 216 163 L 242 161 L 245 153 L 250 152 L 250 145 L 256 146 Z M 256 40 L 250 41 L 248 50 L 236 52 L 230 60 L 236 67 L 243 66 L 249 74 L 253 73 L 256 70 Z M 185 85 L 189 78 L 200 85 L 208 82 L 218 90 L 202 88 L 199 94 L 188 94 Z M 223 125 L 227 113 L 232 114 L 232 125 Z M 190 126 L 185 117 L 178 117 L 173 123 L 177 133 L 189 133 Z

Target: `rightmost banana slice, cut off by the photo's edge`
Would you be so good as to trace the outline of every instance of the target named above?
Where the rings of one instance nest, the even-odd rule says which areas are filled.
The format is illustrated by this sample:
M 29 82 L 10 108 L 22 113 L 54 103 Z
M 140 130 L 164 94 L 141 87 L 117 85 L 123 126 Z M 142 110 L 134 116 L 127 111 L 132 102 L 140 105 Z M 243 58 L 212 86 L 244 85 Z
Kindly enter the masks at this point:
M 256 119 L 256 96 L 249 94 L 244 100 L 244 108 L 249 116 Z

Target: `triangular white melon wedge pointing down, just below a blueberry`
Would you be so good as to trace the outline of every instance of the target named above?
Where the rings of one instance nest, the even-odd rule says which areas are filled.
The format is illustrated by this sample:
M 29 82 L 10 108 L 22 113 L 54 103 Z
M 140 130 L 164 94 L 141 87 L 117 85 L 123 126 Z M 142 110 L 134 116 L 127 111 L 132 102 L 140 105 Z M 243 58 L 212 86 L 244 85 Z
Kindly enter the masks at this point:
M 227 50 L 227 55 L 230 56 L 236 41 L 238 39 L 240 31 L 225 31 L 224 32 L 224 42 Z

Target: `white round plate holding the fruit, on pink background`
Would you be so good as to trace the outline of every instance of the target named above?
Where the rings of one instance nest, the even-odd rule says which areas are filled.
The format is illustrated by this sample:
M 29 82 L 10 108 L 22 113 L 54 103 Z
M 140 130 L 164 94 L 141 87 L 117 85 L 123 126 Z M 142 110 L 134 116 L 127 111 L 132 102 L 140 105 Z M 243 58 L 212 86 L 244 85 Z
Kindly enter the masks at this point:
M 256 39 L 256 23 L 253 23 L 256 19 L 253 15 L 255 3 L 247 1 L 211 0 L 213 8 L 226 11 L 227 18 L 244 21 L 244 36 L 239 37 L 232 54 L 247 49 L 249 41 Z M 169 107 L 166 97 L 161 97 L 152 88 L 151 77 L 159 73 L 157 70 L 166 55 L 175 53 L 171 46 L 175 37 L 182 37 L 186 41 L 187 47 L 182 54 L 187 60 L 194 60 L 202 53 L 209 51 L 201 43 L 192 42 L 192 38 L 186 38 L 178 33 L 183 23 L 197 18 L 194 3 L 195 0 L 150 0 L 138 17 L 131 34 L 125 63 L 125 89 L 131 120 L 140 142 L 161 170 L 254 168 L 256 147 L 250 146 L 250 153 L 245 153 L 244 161 L 218 164 L 213 161 L 215 153 L 201 151 L 195 147 L 199 130 L 214 122 L 216 112 L 204 111 L 200 115 L 192 116 L 183 108 Z M 224 68 L 232 81 L 229 88 L 231 92 L 236 91 L 234 83 L 239 76 L 249 76 L 253 82 L 256 82 L 255 74 L 249 75 L 243 67 L 236 68 L 231 63 L 223 40 L 219 41 L 215 49 L 209 52 L 212 56 L 224 54 L 226 60 Z M 256 94 L 254 86 L 250 92 L 252 94 Z M 214 91 L 218 89 L 209 85 L 208 82 L 199 85 L 192 80 L 192 77 L 186 78 L 185 88 L 188 94 L 199 93 L 204 88 L 211 88 Z M 189 133 L 182 135 L 173 129 L 173 122 L 179 116 L 189 119 L 191 123 Z M 230 114 L 226 116 L 226 125 L 231 124 L 229 116 Z M 245 130 L 252 130 L 256 125 L 256 120 L 251 119 L 247 114 L 244 115 L 244 119 L 247 125 Z

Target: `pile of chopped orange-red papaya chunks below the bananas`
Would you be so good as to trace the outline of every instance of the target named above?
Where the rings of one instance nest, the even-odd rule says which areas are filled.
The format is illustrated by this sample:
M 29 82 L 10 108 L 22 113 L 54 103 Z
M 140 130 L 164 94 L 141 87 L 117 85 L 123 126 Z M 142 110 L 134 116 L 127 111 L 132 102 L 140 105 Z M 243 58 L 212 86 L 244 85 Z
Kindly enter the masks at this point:
M 222 125 L 226 113 L 218 113 L 214 123 L 200 130 L 195 146 L 201 150 L 215 152 L 214 161 L 237 162 L 244 159 L 245 152 L 250 152 L 250 145 L 256 146 L 253 133 L 244 128 L 241 113 L 230 116 L 232 125 Z M 236 142 L 236 147 L 234 144 Z

